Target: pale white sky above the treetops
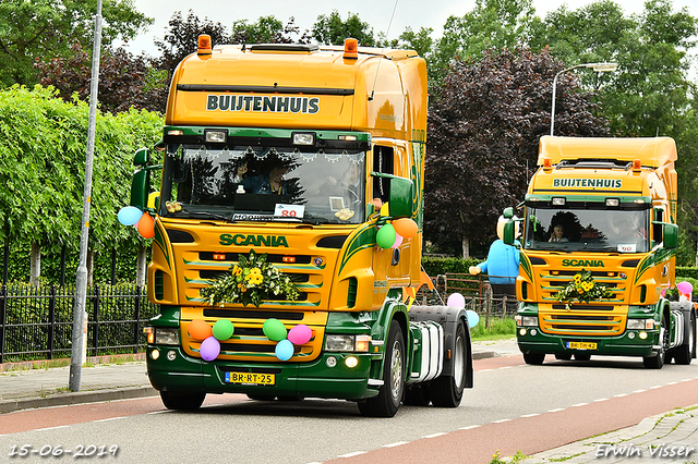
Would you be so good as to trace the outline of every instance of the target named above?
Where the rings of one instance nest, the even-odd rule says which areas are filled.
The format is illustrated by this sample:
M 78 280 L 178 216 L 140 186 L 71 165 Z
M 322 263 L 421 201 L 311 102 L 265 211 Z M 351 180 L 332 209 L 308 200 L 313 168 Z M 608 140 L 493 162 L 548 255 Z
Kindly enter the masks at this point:
M 643 10 L 642 0 L 615 1 L 621 4 L 626 15 L 639 14 Z M 538 16 L 544 17 L 545 13 L 563 4 L 570 10 L 577 10 L 591 2 L 533 0 L 533 7 Z M 397 0 L 397 5 L 395 0 L 133 0 L 133 3 L 136 10 L 153 17 L 155 23 L 125 48 L 133 54 L 145 51 L 147 54 L 158 56 L 159 52 L 153 42 L 156 38 L 164 37 L 168 21 L 176 11 L 181 11 L 182 17 L 185 19 L 191 9 L 201 21 L 208 19 L 218 22 L 230 32 L 233 21 L 248 20 L 252 23 L 260 16 L 268 15 L 276 16 L 282 24 L 293 16 L 301 30 L 311 29 L 318 15 L 328 15 L 333 10 L 337 10 L 342 20 L 347 19 L 349 12 L 358 14 L 361 21 L 371 25 L 374 33 L 387 32 L 388 39 L 397 38 L 407 26 L 414 32 L 422 26 L 431 27 L 434 29 L 432 37 L 437 38 L 441 37 L 448 16 L 462 16 L 472 11 L 476 0 Z M 674 11 L 687 7 L 689 14 L 698 16 L 698 0 L 674 0 L 673 4 Z

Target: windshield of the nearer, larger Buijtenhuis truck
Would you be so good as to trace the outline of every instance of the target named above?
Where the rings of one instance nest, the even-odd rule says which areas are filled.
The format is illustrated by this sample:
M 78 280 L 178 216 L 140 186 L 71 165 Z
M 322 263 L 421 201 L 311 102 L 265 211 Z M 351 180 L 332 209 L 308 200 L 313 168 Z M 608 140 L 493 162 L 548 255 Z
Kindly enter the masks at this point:
M 233 221 L 360 223 L 365 172 L 364 151 L 168 146 L 161 209 Z

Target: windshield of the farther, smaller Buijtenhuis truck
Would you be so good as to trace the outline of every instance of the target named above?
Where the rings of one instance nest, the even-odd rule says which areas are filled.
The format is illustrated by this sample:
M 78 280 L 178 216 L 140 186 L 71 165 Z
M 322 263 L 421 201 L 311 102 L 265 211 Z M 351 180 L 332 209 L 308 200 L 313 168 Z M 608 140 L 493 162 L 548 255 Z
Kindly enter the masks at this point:
M 524 247 L 562 252 L 647 253 L 648 210 L 527 207 Z

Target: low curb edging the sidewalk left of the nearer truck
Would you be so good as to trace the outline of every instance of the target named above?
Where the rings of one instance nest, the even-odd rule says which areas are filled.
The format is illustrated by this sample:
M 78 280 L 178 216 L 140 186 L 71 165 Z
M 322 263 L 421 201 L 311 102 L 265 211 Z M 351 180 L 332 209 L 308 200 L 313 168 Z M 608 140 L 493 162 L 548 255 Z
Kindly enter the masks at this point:
M 38 407 L 67 406 L 82 403 L 97 403 L 101 401 L 128 400 L 134 398 L 157 396 L 159 393 L 153 387 L 125 387 L 115 390 L 94 390 L 57 393 L 47 398 L 23 398 L 0 401 L 0 414 Z

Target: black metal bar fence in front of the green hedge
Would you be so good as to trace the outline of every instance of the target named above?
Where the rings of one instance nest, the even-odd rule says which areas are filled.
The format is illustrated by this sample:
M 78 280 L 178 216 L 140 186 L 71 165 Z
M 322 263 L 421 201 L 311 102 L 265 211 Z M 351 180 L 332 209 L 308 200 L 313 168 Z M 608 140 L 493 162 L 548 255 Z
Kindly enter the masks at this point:
M 0 288 L 0 363 L 69 357 L 74 288 L 9 284 Z M 142 327 L 157 314 L 137 285 L 87 289 L 88 356 L 137 353 L 145 347 Z

